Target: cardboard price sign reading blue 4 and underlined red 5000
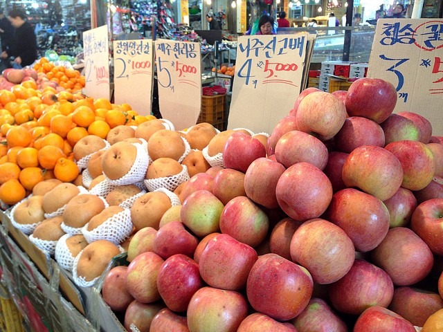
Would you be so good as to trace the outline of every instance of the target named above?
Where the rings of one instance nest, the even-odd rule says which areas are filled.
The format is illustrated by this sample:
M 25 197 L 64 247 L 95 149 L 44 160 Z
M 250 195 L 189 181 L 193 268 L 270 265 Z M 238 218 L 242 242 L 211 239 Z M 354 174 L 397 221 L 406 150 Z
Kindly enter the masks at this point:
M 239 37 L 228 128 L 271 133 L 293 107 L 302 80 L 307 33 Z

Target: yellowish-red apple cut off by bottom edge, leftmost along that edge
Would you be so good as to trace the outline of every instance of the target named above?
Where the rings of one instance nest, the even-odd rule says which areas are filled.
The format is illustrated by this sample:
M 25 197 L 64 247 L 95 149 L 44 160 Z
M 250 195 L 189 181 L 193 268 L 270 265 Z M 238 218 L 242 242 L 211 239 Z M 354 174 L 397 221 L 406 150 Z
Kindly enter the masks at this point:
M 145 304 L 134 300 L 125 312 L 125 329 L 132 331 L 131 326 L 135 326 L 140 332 L 150 332 L 154 316 L 164 307 L 164 304 L 158 302 Z

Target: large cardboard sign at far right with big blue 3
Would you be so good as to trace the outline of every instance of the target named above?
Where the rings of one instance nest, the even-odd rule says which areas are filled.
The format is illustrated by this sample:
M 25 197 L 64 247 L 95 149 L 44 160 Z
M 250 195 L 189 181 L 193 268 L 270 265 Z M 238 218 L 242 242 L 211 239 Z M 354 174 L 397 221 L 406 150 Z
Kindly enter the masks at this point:
M 395 86 L 395 112 L 419 113 L 443 135 L 443 19 L 379 20 L 368 76 Z

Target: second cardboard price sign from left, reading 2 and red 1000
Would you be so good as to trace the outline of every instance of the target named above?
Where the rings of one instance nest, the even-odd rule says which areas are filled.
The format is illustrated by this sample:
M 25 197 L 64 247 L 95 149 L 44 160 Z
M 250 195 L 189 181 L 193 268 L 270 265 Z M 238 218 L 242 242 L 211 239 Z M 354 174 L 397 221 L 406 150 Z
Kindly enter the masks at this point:
M 114 99 L 147 116 L 152 107 L 152 40 L 114 41 Z

